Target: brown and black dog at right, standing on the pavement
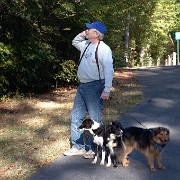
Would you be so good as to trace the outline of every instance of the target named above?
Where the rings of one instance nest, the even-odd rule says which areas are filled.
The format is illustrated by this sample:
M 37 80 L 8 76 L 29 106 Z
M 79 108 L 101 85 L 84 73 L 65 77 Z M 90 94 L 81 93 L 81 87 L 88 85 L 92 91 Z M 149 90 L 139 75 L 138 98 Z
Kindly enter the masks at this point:
M 165 169 L 161 162 L 160 153 L 169 141 L 169 134 L 169 129 L 164 127 L 152 129 L 143 129 L 139 127 L 125 128 L 123 130 L 123 141 L 126 146 L 126 151 L 122 157 L 122 166 L 127 167 L 129 165 L 127 156 L 134 149 L 138 149 L 147 157 L 151 171 L 156 171 L 154 167 L 154 158 L 157 159 L 159 168 Z

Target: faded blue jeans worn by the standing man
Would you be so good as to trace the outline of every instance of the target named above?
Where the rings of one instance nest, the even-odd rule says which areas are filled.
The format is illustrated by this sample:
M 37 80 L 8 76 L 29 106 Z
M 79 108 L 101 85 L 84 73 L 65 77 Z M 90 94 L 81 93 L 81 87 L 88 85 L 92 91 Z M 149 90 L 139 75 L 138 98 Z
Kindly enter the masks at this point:
M 71 112 L 71 144 L 76 149 L 85 149 L 83 132 L 77 128 L 86 114 L 88 113 L 91 119 L 102 123 L 103 100 L 100 96 L 104 89 L 104 80 L 101 81 L 102 86 L 100 81 L 79 84 Z M 92 139 L 90 141 L 89 143 L 92 143 Z

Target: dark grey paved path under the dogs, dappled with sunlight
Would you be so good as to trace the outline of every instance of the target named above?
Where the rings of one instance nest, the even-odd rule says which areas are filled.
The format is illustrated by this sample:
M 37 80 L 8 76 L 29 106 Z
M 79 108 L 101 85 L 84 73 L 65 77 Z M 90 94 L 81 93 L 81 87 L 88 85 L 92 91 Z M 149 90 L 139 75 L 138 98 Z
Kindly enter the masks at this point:
M 166 170 L 157 168 L 151 172 L 144 155 L 134 151 L 130 155 L 130 166 L 118 169 L 91 164 L 82 157 L 57 159 L 50 166 L 40 169 L 30 180 L 179 180 L 180 179 L 180 66 L 135 70 L 144 92 L 144 101 L 120 121 L 124 127 L 165 126 L 170 129 L 170 142 L 162 153 Z M 135 118 L 135 119 L 134 119 Z

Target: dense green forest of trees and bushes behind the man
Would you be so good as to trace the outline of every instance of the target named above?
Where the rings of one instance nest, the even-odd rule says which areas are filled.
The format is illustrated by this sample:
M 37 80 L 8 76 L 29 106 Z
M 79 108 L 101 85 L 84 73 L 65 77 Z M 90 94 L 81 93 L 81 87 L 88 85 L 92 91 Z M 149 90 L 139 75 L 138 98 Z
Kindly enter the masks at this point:
M 1 0 L 0 96 L 77 83 L 71 42 L 95 20 L 107 26 L 115 68 L 163 65 L 179 19 L 179 0 Z

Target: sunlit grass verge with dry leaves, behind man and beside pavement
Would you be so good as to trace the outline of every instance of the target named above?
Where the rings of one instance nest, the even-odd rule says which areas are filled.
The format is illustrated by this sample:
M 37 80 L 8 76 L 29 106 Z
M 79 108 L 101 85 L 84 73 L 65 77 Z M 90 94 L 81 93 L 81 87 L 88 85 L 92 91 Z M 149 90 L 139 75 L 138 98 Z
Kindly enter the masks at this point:
M 0 103 L 0 177 L 27 179 L 69 149 L 70 112 L 76 88 Z M 117 70 L 104 121 L 115 120 L 142 101 L 129 70 Z

